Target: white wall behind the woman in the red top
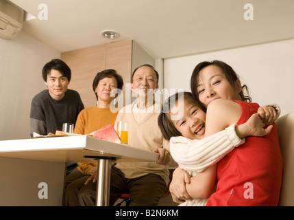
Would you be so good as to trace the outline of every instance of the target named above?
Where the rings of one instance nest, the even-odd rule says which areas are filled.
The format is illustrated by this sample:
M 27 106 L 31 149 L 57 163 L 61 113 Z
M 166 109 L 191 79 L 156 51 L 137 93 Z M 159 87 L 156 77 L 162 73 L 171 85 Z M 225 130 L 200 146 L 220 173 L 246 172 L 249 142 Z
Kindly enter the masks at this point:
M 233 67 L 249 87 L 252 102 L 294 111 L 294 39 L 164 60 L 164 87 L 190 89 L 193 69 L 201 61 L 221 60 Z

